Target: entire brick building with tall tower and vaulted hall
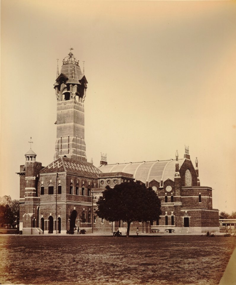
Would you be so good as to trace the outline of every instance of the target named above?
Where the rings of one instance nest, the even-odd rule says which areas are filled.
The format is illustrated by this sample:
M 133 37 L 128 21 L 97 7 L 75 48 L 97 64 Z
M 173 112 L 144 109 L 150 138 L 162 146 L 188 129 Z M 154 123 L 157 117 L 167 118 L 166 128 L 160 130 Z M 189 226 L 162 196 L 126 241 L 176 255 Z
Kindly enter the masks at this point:
M 107 164 L 102 156 L 97 168 L 87 162 L 84 141 L 84 99 L 87 80 L 79 61 L 70 52 L 54 84 L 57 99 L 57 138 L 54 161 L 42 167 L 36 153 L 25 154 L 20 165 L 20 230 L 23 234 L 66 233 L 75 228 L 87 232 L 125 232 L 123 221 L 109 222 L 95 214 L 96 202 L 106 185 L 138 180 L 152 187 L 161 200 L 159 221 L 134 222 L 130 233 L 219 231 L 219 211 L 212 208 L 212 188 L 200 186 L 185 148 L 184 159 Z

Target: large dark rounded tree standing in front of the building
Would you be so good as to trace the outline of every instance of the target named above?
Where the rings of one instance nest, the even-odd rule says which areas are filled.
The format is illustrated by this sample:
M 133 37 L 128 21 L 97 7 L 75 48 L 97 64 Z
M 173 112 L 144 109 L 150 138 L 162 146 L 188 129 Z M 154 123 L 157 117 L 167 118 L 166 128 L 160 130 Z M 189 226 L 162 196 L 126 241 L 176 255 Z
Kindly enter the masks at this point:
M 106 186 L 97 205 L 96 214 L 99 217 L 108 221 L 127 222 L 127 236 L 131 222 L 154 221 L 161 215 L 161 202 L 157 194 L 140 181 L 123 182 L 113 189 Z

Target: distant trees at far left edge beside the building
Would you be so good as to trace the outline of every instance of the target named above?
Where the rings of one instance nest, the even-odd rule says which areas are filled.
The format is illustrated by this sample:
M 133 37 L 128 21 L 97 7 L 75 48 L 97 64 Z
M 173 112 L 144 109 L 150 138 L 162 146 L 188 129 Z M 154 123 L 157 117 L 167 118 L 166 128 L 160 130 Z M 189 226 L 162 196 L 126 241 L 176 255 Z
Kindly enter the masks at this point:
M 0 197 L 0 225 L 11 224 L 15 227 L 19 224 L 20 206 L 18 200 L 12 200 L 10 196 Z

